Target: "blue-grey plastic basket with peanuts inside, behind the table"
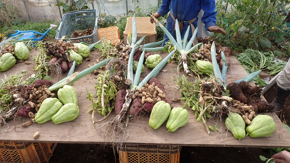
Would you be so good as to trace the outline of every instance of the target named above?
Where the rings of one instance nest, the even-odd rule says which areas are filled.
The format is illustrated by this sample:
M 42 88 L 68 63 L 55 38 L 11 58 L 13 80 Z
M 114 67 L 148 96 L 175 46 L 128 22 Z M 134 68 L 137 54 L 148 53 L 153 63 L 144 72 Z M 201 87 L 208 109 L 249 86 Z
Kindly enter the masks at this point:
M 61 19 L 61 23 L 57 29 L 55 39 L 61 40 L 62 36 L 70 38 L 71 42 L 85 42 L 92 44 L 98 41 L 98 16 L 97 10 L 77 10 L 66 12 Z M 94 28 L 91 35 L 71 38 L 73 31 L 85 31 L 86 29 Z M 64 39 L 64 41 L 66 41 Z

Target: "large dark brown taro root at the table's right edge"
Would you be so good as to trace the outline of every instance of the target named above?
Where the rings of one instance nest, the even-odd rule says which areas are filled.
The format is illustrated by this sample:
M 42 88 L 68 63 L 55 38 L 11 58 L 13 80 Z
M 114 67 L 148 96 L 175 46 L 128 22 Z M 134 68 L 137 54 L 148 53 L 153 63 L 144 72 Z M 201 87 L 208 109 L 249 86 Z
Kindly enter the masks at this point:
M 253 107 L 254 112 L 263 113 L 274 109 L 274 105 L 262 101 L 263 91 L 259 86 L 250 86 L 246 81 L 232 82 L 227 86 L 231 97 Z

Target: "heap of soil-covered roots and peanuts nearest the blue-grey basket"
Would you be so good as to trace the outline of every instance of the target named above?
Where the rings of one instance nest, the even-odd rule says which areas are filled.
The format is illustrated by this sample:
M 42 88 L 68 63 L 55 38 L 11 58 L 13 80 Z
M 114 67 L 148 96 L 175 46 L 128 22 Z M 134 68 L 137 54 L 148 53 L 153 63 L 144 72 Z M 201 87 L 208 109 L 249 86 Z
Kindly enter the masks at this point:
M 66 72 L 71 68 L 72 60 L 69 59 L 67 51 L 73 49 L 77 53 L 77 46 L 61 40 L 58 40 L 56 42 L 46 42 L 45 46 L 46 54 L 48 56 L 53 56 L 50 64 L 59 65 L 63 72 Z

